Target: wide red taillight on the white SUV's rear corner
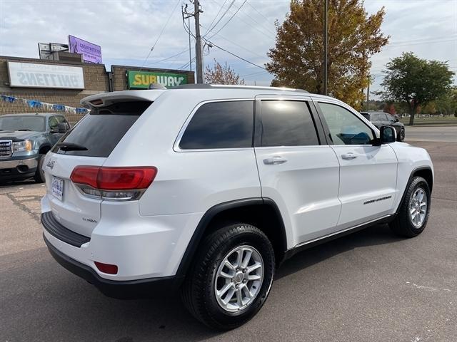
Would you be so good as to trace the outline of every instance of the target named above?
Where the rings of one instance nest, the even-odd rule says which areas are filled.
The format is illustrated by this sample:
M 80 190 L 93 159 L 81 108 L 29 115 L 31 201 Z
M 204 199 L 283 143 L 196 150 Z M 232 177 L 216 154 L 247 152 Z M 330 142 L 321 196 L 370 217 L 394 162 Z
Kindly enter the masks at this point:
M 140 190 L 149 187 L 156 175 L 156 167 L 77 166 L 70 179 L 99 190 Z

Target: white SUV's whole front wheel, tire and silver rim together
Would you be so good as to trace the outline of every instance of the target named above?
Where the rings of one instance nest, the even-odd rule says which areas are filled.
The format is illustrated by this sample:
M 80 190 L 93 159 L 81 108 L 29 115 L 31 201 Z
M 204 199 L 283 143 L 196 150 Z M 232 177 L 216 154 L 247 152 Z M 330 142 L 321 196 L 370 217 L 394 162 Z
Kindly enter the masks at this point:
M 430 188 L 423 177 L 413 177 L 400 205 L 391 229 L 403 237 L 418 236 L 427 225 L 431 205 Z

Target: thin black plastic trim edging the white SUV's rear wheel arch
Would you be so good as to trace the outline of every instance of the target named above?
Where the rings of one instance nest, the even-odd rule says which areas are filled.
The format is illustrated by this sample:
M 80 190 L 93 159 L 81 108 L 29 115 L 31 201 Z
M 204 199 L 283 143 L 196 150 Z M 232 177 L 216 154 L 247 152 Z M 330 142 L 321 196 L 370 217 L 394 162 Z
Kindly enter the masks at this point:
M 220 212 L 224 212 L 229 209 L 236 209 L 238 207 L 247 207 L 250 205 L 261 205 L 261 204 L 267 204 L 271 206 L 275 212 L 276 215 L 278 215 L 279 222 L 281 224 L 281 234 L 283 234 L 283 251 L 286 251 L 287 249 L 287 236 L 286 236 L 286 229 L 284 227 L 283 219 L 281 216 L 281 212 L 279 211 L 278 206 L 276 203 L 273 201 L 273 199 L 269 198 L 262 198 L 262 197 L 253 197 L 253 198 L 245 198 L 245 199 L 236 199 L 234 201 L 230 202 L 224 202 L 221 204 L 216 204 L 214 207 L 211 207 L 208 209 L 208 211 L 203 215 L 201 218 L 199 224 L 197 225 L 194 234 L 191 237 L 191 240 L 189 244 L 187 245 L 186 252 L 184 252 L 184 255 L 181 259 L 181 263 L 179 264 L 178 271 L 176 271 L 177 276 L 186 276 L 186 272 L 189 269 L 189 266 L 191 265 L 191 261 L 196 254 L 196 251 L 199 247 L 199 244 L 201 242 L 201 238 L 204 236 L 204 232 L 206 227 L 208 227 L 209 222 L 211 222 L 211 219 L 216 216 L 216 214 L 219 214 Z

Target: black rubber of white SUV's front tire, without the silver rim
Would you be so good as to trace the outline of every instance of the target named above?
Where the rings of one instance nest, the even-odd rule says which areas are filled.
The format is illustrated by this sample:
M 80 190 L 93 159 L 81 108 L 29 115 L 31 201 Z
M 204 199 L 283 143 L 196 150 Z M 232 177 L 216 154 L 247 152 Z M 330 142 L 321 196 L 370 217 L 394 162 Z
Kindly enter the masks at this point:
M 423 222 L 419 227 L 416 227 L 411 218 L 410 214 L 410 202 L 411 197 L 414 195 L 416 190 L 419 188 L 423 189 L 427 199 L 427 207 L 426 207 L 426 214 L 423 219 Z M 428 183 L 423 177 L 413 177 L 411 182 L 409 183 L 408 187 L 406 188 L 406 195 L 403 198 L 403 202 L 400 204 L 400 208 L 398 210 L 398 214 L 396 218 L 389 224 L 389 227 L 395 232 L 396 234 L 402 237 L 417 237 L 418 234 L 423 232 L 425 229 L 427 222 L 428 222 L 428 215 L 430 214 L 431 208 L 431 194 L 430 194 L 430 187 L 428 187 Z

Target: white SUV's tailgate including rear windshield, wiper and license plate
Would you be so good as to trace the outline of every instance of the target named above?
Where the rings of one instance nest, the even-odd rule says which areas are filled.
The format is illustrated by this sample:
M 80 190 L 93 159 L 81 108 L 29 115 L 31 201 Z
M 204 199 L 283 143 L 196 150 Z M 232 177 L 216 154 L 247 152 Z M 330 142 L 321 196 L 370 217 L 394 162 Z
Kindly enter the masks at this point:
M 101 167 L 151 102 L 129 100 L 93 108 L 46 155 L 46 197 L 56 220 L 86 237 L 101 218 L 101 196 L 70 180 L 77 166 Z M 86 191 L 84 193 L 83 191 Z

